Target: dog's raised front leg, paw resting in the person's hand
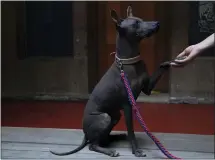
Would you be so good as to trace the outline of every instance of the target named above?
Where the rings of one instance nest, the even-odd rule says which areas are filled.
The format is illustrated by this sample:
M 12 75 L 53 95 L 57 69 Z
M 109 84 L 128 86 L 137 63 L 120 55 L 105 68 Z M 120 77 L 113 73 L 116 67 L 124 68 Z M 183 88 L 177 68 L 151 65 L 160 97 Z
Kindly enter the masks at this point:
M 154 89 L 161 76 L 170 68 L 170 62 L 164 62 L 155 71 L 152 76 L 145 82 L 142 92 L 146 95 L 151 95 L 151 91 Z

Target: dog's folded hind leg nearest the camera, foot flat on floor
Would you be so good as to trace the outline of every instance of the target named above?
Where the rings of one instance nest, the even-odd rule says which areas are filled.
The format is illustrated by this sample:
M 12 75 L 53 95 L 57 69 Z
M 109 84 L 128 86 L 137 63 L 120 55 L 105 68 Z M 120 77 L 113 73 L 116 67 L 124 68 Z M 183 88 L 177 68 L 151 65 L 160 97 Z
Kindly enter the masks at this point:
M 111 157 L 119 156 L 115 150 L 110 150 L 100 146 L 100 143 L 107 135 L 110 134 L 113 128 L 113 123 L 111 117 L 107 113 L 101 113 L 100 115 L 94 115 L 95 121 L 90 125 L 89 131 L 87 133 L 88 139 L 91 141 L 89 149 L 98 153 L 102 153 Z

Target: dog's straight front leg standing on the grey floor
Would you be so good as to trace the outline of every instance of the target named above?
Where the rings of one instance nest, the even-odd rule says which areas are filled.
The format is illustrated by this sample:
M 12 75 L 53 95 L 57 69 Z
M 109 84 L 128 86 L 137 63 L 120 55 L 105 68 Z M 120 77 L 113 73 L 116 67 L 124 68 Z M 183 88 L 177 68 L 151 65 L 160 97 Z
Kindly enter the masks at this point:
M 124 115 L 125 115 L 125 123 L 128 132 L 128 139 L 132 147 L 132 153 L 136 157 L 146 157 L 146 154 L 138 148 L 137 140 L 134 134 L 134 127 L 133 127 L 133 117 L 132 117 L 132 107 L 128 104 L 123 106 Z

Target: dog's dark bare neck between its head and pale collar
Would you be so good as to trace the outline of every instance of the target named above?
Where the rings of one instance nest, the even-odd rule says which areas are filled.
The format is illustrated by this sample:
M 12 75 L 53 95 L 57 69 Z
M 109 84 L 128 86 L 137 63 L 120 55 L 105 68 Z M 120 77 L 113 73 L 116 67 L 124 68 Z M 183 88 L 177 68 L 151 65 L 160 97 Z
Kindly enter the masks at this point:
M 131 43 L 127 39 L 117 35 L 116 54 L 120 59 L 129 59 L 140 55 L 139 43 Z

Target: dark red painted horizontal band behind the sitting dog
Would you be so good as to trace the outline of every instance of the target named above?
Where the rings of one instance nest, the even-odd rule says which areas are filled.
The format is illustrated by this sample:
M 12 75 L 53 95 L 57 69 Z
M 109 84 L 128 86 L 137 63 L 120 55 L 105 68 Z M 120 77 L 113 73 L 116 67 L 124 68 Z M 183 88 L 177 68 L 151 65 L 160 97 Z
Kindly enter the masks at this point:
M 2 126 L 81 129 L 86 102 L 3 101 Z M 152 132 L 214 134 L 214 106 L 139 103 Z M 142 131 L 134 121 L 135 131 Z M 126 130 L 124 117 L 114 130 Z

